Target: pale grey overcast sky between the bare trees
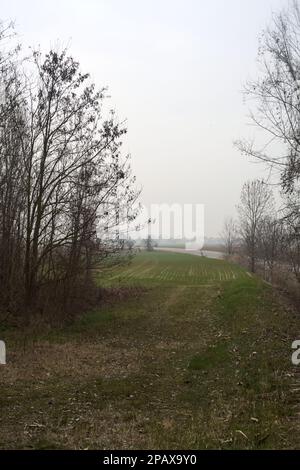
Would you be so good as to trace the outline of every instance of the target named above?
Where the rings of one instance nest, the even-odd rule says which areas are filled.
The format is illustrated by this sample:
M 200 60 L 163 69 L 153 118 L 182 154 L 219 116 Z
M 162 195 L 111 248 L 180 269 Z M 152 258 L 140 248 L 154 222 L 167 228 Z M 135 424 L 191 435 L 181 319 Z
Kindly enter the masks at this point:
M 124 152 L 150 203 L 205 204 L 218 236 L 242 184 L 265 173 L 233 147 L 253 136 L 242 86 L 257 71 L 258 37 L 287 0 L 2 0 L 20 42 L 59 42 L 108 86 L 127 119 Z

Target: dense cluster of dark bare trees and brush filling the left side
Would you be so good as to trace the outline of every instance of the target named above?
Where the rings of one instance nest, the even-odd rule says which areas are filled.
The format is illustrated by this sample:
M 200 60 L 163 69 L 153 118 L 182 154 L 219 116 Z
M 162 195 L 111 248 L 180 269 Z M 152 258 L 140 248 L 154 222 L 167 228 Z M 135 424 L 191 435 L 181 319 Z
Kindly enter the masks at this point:
M 71 311 L 136 216 L 126 128 L 67 50 L 23 59 L 0 28 L 0 307 Z

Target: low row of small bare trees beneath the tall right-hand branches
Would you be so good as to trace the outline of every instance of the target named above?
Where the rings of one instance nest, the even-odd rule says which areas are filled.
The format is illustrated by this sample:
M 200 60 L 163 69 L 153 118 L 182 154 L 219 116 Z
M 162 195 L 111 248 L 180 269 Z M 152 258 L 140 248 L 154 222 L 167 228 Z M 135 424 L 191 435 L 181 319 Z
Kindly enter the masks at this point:
M 226 253 L 242 256 L 251 272 L 274 281 L 275 273 L 290 273 L 300 284 L 300 237 L 294 219 L 276 210 L 272 190 L 264 180 L 243 185 L 239 217 L 225 220 L 222 237 Z

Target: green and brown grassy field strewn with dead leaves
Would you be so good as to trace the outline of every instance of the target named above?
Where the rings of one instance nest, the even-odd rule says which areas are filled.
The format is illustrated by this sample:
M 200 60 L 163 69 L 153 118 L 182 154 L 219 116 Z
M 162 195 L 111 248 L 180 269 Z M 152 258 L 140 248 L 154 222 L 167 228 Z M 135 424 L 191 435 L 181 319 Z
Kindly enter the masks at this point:
M 225 261 L 140 253 L 99 310 L 1 332 L 1 448 L 298 448 L 300 320 Z

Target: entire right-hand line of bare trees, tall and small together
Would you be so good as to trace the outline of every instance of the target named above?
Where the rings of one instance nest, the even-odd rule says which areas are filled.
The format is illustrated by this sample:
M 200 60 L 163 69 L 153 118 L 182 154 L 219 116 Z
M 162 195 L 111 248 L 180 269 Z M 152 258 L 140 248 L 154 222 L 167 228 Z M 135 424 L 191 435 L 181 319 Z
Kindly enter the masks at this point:
M 246 182 L 238 221 L 224 225 L 226 251 L 239 251 L 252 272 L 262 265 L 272 282 L 274 271 L 292 273 L 300 283 L 300 8 L 297 0 L 267 28 L 259 46 L 260 72 L 245 86 L 251 100 L 250 119 L 263 131 L 264 142 L 236 142 L 253 161 L 276 177 L 281 202 L 276 209 L 269 179 Z M 274 180 L 274 178 L 273 178 Z

